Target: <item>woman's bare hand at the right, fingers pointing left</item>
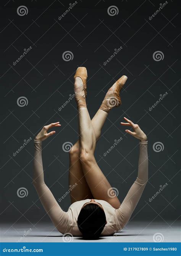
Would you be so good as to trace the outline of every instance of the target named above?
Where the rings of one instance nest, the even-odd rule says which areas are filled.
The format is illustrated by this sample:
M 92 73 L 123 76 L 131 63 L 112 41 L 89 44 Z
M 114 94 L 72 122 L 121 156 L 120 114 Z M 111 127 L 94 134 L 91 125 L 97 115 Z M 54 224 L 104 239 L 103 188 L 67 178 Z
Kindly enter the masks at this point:
M 139 128 L 138 124 L 134 124 L 131 122 L 129 119 L 124 117 L 124 119 L 127 121 L 127 123 L 121 122 L 123 126 L 131 126 L 133 127 L 134 132 L 131 132 L 131 130 L 125 130 L 125 132 L 133 135 L 136 139 L 139 139 L 141 141 L 147 141 L 147 136 L 146 134 Z

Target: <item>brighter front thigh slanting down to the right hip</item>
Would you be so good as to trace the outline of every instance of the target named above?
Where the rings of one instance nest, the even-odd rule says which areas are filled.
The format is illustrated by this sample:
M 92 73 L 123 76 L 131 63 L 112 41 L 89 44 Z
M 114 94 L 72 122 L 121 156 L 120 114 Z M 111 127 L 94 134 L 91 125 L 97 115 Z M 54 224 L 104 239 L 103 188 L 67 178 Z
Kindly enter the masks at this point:
M 108 182 L 105 175 L 100 170 L 97 162 L 92 157 L 92 160 L 82 163 L 84 177 L 95 199 L 104 200 L 110 203 L 114 208 L 119 208 L 121 203 Z

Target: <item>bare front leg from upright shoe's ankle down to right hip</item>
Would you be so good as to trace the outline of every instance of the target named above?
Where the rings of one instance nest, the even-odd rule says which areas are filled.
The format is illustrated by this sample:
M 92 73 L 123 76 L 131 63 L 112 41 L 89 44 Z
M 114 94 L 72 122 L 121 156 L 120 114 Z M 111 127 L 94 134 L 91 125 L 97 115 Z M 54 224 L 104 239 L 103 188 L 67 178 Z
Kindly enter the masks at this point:
M 94 121 L 95 120 L 96 119 L 94 119 Z M 86 182 L 89 185 L 94 198 L 108 201 L 113 207 L 118 208 L 120 206 L 120 201 L 117 197 L 109 197 L 108 190 L 112 187 L 103 175 L 94 158 L 96 136 L 93 124 L 95 124 L 95 127 L 97 126 L 97 122 L 94 123 L 94 121 L 92 120 L 91 122 L 89 112 L 86 107 L 79 108 L 79 130 L 81 134 L 79 137 L 80 160 L 84 177 L 86 178 Z

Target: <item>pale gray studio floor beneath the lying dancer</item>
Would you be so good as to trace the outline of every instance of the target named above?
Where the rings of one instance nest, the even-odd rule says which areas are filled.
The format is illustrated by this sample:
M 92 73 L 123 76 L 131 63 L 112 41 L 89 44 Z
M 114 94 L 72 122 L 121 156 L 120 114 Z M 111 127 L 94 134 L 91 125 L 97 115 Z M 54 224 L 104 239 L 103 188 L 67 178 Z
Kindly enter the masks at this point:
M 158 234 L 159 233 L 159 234 Z M 63 237 L 54 229 L 51 223 L 38 223 L 30 226 L 28 223 L 1 224 L 1 242 L 66 242 L 69 239 L 73 242 L 180 242 L 179 222 L 136 222 L 131 221 L 120 233 L 114 236 L 102 237 L 99 240 L 85 241 L 79 237 Z

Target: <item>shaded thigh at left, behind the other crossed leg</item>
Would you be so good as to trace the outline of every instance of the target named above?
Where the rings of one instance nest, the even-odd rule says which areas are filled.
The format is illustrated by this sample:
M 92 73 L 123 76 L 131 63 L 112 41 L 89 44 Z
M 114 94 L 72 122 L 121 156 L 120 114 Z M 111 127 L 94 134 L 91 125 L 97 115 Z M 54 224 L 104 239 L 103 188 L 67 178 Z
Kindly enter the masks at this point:
M 79 157 L 70 158 L 69 191 L 71 203 L 89 198 L 93 199 L 91 190 L 84 177 Z

